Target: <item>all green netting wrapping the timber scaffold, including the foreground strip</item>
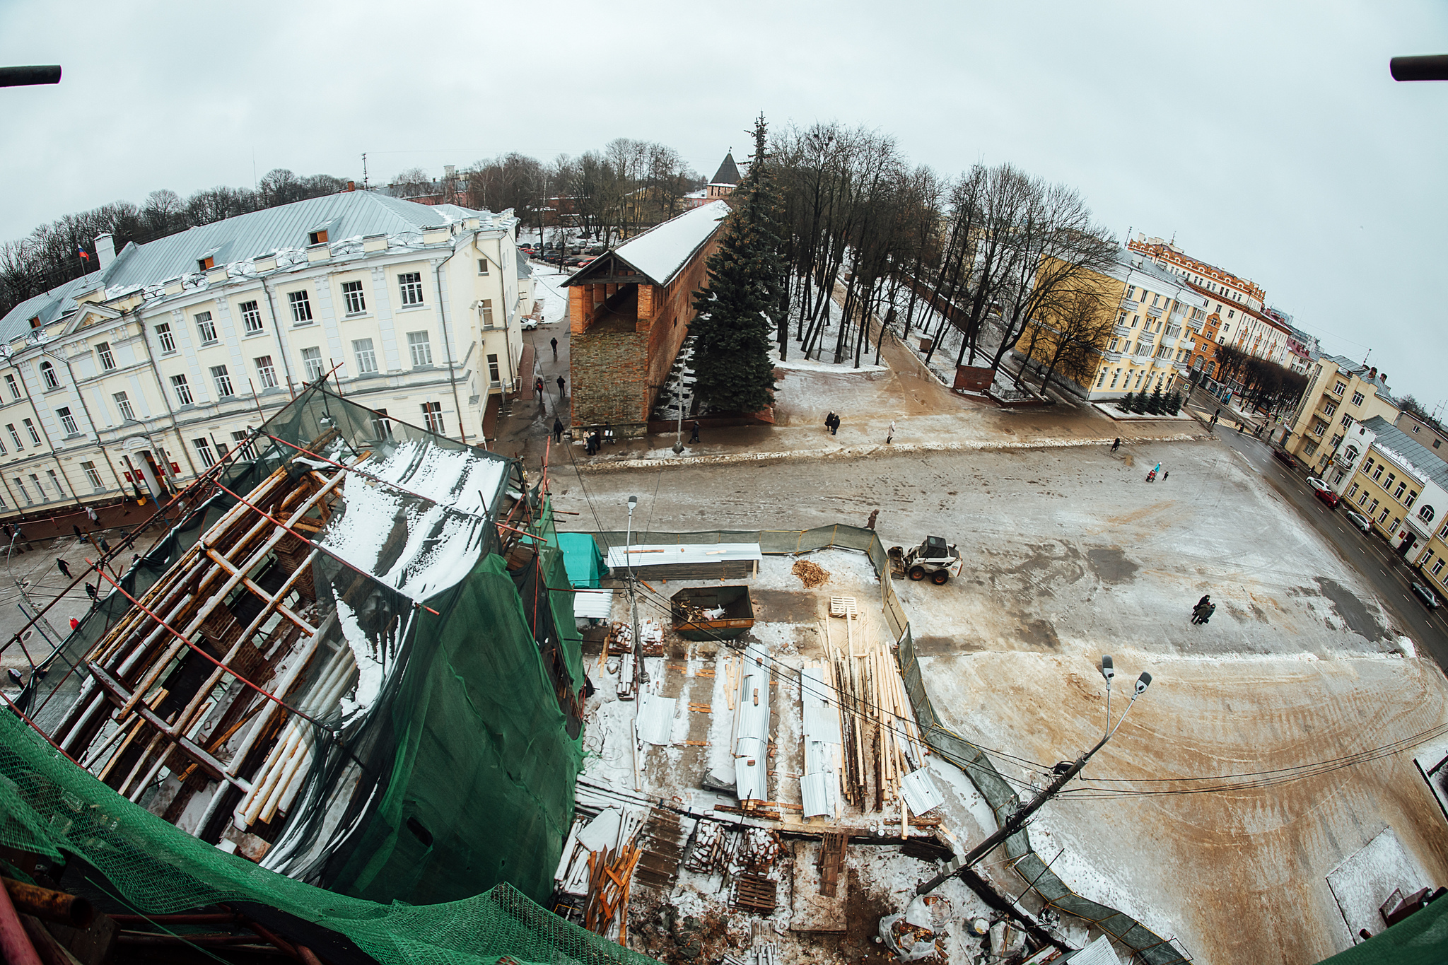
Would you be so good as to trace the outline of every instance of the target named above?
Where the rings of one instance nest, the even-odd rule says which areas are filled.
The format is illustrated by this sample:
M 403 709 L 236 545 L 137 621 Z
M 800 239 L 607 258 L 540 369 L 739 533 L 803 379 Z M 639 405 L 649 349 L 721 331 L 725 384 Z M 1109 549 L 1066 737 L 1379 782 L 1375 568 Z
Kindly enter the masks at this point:
M 304 447 L 326 438 L 334 459 L 403 443 L 417 443 L 423 453 L 465 450 L 468 459 L 507 464 L 497 501 L 510 488 L 524 492 L 513 460 L 387 420 L 320 388 L 258 431 L 256 457 L 226 469 L 226 489 L 245 496 L 297 457 L 271 437 Z M 369 712 L 330 719 L 336 732 L 311 729 L 313 764 L 265 868 L 211 846 L 230 803 L 193 838 L 55 755 L 12 715 L 0 715 L 0 843 L 51 856 L 68 851 L 100 870 L 138 910 L 256 901 L 342 932 L 382 961 L 637 958 L 533 904 L 552 893 L 572 823 L 584 667 L 552 508 L 536 493 L 527 498 L 542 511 L 524 540 L 537 550 L 537 566 L 507 569 L 489 516 L 476 528 L 476 564 L 426 600 L 437 615 L 327 557 L 313 563 L 319 605 L 346 600 L 369 635 L 381 628 L 374 639 L 391 670 Z M 127 590 L 143 592 L 236 503 L 222 489 L 197 499 L 123 580 Z M 48 689 L 30 700 L 38 720 L 55 719 L 70 703 L 81 674 L 62 671 L 127 605 L 111 598 L 65 641 Z M 190 658 L 185 652 L 182 661 Z M 327 819 L 336 800 L 348 802 L 346 809 Z

